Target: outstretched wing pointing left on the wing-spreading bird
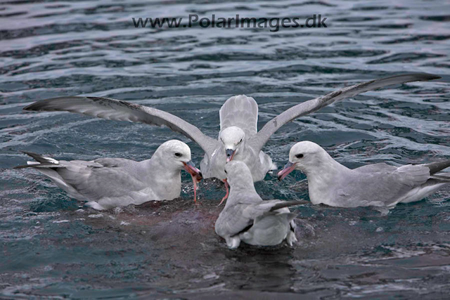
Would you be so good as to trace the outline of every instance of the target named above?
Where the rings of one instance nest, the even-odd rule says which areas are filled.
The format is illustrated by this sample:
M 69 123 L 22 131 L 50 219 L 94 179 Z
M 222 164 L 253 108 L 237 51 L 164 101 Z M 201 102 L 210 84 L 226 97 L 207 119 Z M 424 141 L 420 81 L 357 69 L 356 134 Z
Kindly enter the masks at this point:
M 214 138 L 205 136 L 197 127 L 169 112 L 111 98 L 58 97 L 37 101 L 24 107 L 24 110 L 78 112 L 103 119 L 167 126 L 191 138 L 208 154 L 214 151 L 218 143 Z

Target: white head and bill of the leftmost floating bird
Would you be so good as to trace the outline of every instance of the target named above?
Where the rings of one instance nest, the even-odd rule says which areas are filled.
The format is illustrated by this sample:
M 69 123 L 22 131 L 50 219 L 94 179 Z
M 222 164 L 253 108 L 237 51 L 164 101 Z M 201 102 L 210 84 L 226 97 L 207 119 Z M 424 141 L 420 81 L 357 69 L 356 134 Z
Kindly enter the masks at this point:
M 191 148 L 186 143 L 178 140 L 170 140 L 162 143 L 155 152 L 160 157 L 161 162 L 168 168 L 174 170 L 185 169 L 191 176 L 200 180 L 202 173 L 195 168 L 191 162 Z

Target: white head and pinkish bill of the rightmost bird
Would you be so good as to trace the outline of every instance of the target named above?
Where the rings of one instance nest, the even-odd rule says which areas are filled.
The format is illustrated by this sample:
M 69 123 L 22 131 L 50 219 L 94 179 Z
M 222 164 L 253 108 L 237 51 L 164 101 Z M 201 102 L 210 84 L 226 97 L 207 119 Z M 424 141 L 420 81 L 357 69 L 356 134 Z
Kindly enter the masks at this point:
M 295 169 L 307 174 L 316 169 L 323 161 L 328 161 L 330 156 L 321 146 L 310 141 L 302 141 L 293 145 L 289 151 L 289 162 L 285 164 L 283 170 L 278 172 L 278 179 L 283 180 Z

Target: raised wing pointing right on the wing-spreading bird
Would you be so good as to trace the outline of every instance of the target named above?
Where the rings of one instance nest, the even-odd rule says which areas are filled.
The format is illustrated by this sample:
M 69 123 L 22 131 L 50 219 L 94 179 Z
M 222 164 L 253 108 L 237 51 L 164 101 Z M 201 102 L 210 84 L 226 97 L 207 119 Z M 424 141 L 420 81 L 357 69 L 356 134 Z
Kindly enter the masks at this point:
M 280 115 L 274 117 L 269 122 L 267 122 L 264 127 L 257 133 L 257 135 L 252 138 L 252 144 L 255 145 L 256 149 L 261 150 L 262 147 L 269 141 L 272 134 L 275 133 L 284 124 L 296 119 L 297 117 L 302 117 L 308 115 L 311 112 L 320 110 L 322 107 L 326 107 L 331 103 L 335 103 L 338 100 L 344 98 L 349 98 L 356 96 L 359 93 L 364 93 L 366 91 L 373 91 L 375 89 L 380 89 L 384 86 L 390 86 L 393 84 L 404 84 L 411 81 L 427 81 L 432 79 L 439 79 L 441 77 L 426 74 L 426 73 L 414 73 L 406 75 L 398 75 L 387 77 L 383 79 L 376 79 L 372 81 L 367 81 L 361 84 L 355 84 L 354 86 L 347 86 L 339 91 L 334 91 L 333 93 L 328 93 L 326 96 L 308 100 L 304 103 L 297 104 L 285 110 Z

